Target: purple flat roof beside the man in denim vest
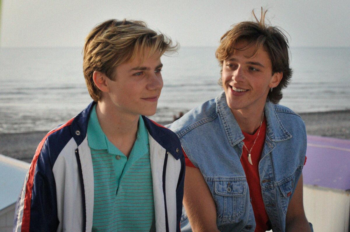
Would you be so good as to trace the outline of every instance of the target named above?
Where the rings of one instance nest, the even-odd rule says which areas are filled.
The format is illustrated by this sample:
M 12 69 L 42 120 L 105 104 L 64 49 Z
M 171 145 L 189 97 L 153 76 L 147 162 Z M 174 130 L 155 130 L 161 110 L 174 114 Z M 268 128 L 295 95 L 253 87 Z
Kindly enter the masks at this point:
M 350 190 L 350 140 L 307 136 L 303 183 Z

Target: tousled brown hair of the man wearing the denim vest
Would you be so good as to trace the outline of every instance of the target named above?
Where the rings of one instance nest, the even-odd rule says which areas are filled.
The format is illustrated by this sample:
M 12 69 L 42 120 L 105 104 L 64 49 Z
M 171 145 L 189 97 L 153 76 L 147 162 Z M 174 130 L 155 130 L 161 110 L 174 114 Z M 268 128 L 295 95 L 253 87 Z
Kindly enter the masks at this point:
M 272 63 L 272 75 L 275 72 L 283 73 L 279 85 L 273 88 L 272 92 L 268 92 L 267 95 L 271 102 L 277 104 L 282 99 L 282 89 L 289 84 L 293 71 L 289 67 L 288 38 L 282 32 L 282 29 L 265 24 L 266 12 L 267 10 L 263 11 L 261 8 L 261 16 L 258 19 L 253 10 L 252 16 L 255 21 L 232 25 L 232 28 L 221 37 L 215 55 L 222 67 L 224 60 L 234 54 L 236 50 L 242 51 L 255 46 L 252 54 L 254 56 L 260 48 L 264 48 Z M 237 48 L 236 44 L 241 41 L 247 42 L 246 45 Z M 219 79 L 218 84 L 222 85 L 222 79 Z

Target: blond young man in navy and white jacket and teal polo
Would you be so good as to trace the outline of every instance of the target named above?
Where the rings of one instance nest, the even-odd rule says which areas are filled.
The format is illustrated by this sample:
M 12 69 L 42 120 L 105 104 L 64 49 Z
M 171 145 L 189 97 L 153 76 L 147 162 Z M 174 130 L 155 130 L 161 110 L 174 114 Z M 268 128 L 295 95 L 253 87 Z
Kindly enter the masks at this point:
M 93 102 L 37 147 L 14 231 L 180 231 L 181 144 L 146 117 L 163 87 L 160 58 L 176 50 L 142 21 L 90 32 L 83 72 Z

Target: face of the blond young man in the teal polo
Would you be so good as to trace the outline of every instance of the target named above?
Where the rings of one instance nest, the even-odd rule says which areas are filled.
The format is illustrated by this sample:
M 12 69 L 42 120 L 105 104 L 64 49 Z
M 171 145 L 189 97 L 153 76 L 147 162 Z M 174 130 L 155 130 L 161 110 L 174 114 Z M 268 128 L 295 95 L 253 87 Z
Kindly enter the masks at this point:
M 107 78 L 110 107 L 131 115 L 154 115 L 163 87 L 160 54 L 138 55 L 134 60 L 116 67 L 113 80 Z

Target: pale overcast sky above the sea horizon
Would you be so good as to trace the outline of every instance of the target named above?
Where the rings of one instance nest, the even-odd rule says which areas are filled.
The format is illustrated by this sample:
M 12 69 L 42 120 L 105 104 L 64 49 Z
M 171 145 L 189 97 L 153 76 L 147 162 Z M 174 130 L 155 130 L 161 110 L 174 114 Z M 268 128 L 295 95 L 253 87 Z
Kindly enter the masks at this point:
M 181 46 L 217 46 L 232 24 L 251 19 L 251 10 L 290 35 L 290 45 L 350 46 L 350 0 L 293 1 L 80 1 L 2 0 L 2 47 L 78 46 L 98 23 L 138 19 Z

